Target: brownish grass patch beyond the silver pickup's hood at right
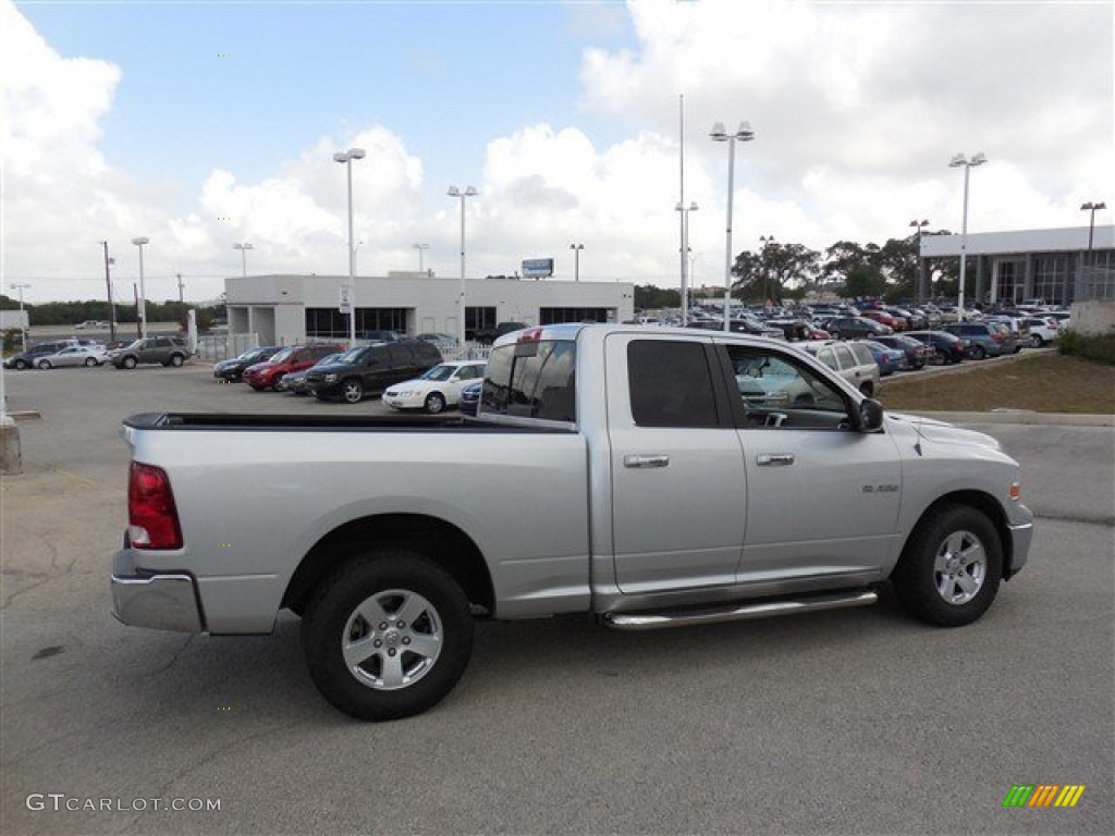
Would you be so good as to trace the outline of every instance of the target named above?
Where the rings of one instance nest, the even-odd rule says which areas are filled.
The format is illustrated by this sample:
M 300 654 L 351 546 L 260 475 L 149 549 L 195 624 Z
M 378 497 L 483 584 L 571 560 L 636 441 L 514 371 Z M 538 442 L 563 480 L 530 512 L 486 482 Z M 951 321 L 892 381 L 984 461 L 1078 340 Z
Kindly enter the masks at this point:
M 888 409 L 911 412 L 1115 415 L 1115 367 L 1053 352 L 1006 361 L 966 360 L 942 373 L 886 378 L 879 399 Z

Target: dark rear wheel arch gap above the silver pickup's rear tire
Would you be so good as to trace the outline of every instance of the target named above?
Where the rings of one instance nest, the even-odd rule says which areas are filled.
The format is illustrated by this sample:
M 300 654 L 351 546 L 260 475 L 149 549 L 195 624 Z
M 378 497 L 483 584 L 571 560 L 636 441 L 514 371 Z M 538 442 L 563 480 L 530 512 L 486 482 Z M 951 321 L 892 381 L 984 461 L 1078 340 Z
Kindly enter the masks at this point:
M 317 585 L 369 545 L 414 550 L 448 572 L 469 603 L 495 611 L 492 576 L 479 548 L 457 526 L 423 514 L 382 514 L 334 528 L 302 558 L 287 585 L 281 606 L 301 613 Z

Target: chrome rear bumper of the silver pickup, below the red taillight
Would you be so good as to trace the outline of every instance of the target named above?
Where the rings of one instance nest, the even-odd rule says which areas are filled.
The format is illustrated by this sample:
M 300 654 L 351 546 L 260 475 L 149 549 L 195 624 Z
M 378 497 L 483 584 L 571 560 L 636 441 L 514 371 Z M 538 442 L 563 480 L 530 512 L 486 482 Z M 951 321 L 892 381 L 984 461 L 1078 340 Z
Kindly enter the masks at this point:
M 205 632 L 196 583 L 184 572 L 139 572 L 130 552 L 113 561 L 113 615 L 120 623 L 183 633 Z

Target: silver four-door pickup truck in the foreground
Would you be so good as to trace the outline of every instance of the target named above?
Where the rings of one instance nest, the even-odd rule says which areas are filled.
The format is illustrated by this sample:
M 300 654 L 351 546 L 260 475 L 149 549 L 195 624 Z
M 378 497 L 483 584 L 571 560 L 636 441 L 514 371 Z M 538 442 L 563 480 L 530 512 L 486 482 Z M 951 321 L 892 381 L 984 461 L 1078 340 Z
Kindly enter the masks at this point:
M 622 630 L 867 604 L 978 619 L 1032 515 L 995 439 L 881 405 L 785 341 L 638 325 L 500 338 L 475 420 L 124 421 L 117 618 L 268 633 L 302 619 L 341 711 L 424 711 L 477 618 Z

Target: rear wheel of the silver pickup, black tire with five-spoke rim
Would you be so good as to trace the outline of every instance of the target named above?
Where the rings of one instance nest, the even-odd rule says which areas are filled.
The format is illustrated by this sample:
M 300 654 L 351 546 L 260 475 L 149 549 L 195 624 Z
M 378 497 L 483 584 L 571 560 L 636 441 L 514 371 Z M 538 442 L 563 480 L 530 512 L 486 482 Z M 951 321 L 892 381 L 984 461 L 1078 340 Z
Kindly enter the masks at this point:
M 302 620 L 313 684 L 358 720 L 433 708 L 460 679 L 472 649 L 473 618 L 460 586 L 405 548 L 375 548 L 342 564 L 317 589 Z

